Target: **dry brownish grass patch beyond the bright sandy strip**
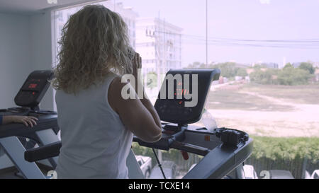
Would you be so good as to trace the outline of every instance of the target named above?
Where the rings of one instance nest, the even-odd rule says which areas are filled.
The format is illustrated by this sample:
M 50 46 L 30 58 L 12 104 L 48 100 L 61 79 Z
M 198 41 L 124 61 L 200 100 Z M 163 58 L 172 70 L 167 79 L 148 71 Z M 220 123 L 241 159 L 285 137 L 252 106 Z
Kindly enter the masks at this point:
M 232 87 L 232 85 L 226 86 Z M 208 95 L 208 109 L 257 110 L 257 111 L 293 111 L 290 105 L 281 105 L 248 93 L 257 93 L 272 98 L 282 99 L 289 103 L 319 105 L 319 84 L 304 86 L 260 85 L 247 83 L 236 85 L 235 89 L 211 91 Z M 242 92 L 242 93 L 241 93 Z

